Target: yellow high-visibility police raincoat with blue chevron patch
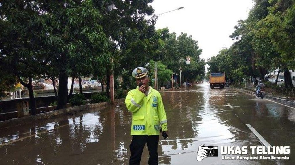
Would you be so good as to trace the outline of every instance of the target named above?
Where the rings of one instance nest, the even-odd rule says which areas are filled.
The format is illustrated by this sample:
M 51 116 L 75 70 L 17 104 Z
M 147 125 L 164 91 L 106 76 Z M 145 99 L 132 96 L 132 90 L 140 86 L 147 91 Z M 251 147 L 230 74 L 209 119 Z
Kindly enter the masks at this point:
M 132 112 L 131 135 L 159 135 L 167 131 L 167 119 L 162 97 L 150 87 L 148 95 L 138 87 L 130 90 L 125 99 L 127 109 Z

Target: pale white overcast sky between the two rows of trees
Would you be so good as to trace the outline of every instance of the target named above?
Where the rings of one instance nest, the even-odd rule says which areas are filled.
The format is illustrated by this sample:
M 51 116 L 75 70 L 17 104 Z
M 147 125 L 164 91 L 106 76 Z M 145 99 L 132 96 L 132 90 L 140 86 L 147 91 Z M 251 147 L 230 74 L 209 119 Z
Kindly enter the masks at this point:
M 229 37 L 238 20 L 245 20 L 252 9 L 252 0 L 154 0 L 155 14 L 184 7 L 158 17 L 156 29 L 169 28 L 169 32 L 192 35 L 203 50 L 200 58 L 207 61 L 223 47 L 234 41 Z

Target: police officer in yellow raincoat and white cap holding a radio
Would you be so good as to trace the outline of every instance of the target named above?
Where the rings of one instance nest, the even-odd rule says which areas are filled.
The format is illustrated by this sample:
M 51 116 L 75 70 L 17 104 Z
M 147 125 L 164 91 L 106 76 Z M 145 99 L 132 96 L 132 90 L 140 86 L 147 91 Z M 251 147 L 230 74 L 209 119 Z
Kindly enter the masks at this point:
M 148 164 L 158 164 L 158 142 L 160 128 L 167 129 L 167 119 L 160 93 L 148 85 L 148 70 L 135 68 L 132 76 L 136 79 L 137 88 L 130 90 L 125 99 L 127 109 L 132 112 L 129 164 L 140 164 L 145 143 L 150 154 Z

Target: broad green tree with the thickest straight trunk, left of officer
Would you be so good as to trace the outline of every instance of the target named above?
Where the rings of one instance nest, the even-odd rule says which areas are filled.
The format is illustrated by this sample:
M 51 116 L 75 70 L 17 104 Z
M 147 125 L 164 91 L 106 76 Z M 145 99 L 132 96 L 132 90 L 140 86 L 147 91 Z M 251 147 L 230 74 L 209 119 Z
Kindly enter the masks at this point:
M 91 73 L 94 68 L 90 64 L 101 62 L 107 55 L 104 54 L 106 36 L 99 24 L 101 13 L 91 0 L 50 1 L 40 5 L 46 26 L 42 33 L 47 34 L 44 40 L 51 50 L 49 65 L 58 70 L 57 109 L 61 109 L 68 100 L 68 75 L 72 70 L 77 74 L 81 70 Z

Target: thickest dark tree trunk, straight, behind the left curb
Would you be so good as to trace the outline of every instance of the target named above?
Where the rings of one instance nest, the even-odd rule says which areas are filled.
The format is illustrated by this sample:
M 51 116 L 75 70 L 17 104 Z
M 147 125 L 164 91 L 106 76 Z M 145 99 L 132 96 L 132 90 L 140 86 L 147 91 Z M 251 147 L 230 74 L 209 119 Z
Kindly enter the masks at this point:
M 67 107 L 68 102 L 68 75 L 65 69 L 61 69 L 59 73 L 58 84 L 58 103 L 56 110 Z

